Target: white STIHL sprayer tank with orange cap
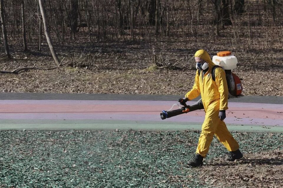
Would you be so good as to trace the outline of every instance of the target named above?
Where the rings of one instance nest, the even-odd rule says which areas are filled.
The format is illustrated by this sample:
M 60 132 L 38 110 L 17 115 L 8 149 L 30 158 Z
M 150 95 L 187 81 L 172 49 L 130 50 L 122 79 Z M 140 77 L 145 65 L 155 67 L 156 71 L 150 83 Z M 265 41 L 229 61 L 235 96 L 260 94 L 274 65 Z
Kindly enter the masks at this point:
M 212 62 L 224 70 L 232 70 L 237 67 L 238 60 L 231 54 L 231 51 L 221 51 L 217 53 L 217 56 L 213 56 Z

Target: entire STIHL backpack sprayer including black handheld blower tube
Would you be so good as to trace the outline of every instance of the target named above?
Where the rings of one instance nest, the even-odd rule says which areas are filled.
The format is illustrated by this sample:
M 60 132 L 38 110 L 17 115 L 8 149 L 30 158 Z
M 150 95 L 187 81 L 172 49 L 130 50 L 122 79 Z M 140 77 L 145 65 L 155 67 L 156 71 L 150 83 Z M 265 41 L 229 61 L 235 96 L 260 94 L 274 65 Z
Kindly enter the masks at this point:
M 237 58 L 234 55 L 232 55 L 230 51 L 221 51 L 217 53 L 217 56 L 213 56 L 212 62 L 215 64 L 215 66 L 212 68 L 212 77 L 214 77 L 214 79 L 215 79 L 215 72 L 214 72 L 215 68 L 221 66 L 225 70 L 228 91 L 229 91 L 228 99 L 242 97 L 243 96 L 241 94 L 243 90 L 241 83 L 242 79 L 240 79 L 236 74 L 231 72 L 232 69 L 235 69 L 237 67 L 237 63 L 238 63 Z M 162 113 L 160 113 L 161 119 L 166 119 L 180 114 L 186 114 L 188 112 L 192 112 L 195 110 L 204 109 L 203 102 L 201 99 L 197 103 L 191 106 L 187 105 L 186 101 L 183 100 L 184 100 L 183 98 L 178 99 L 178 102 L 180 102 L 180 104 L 183 105 L 183 107 L 181 107 L 180 109 L 171 110 L 172 109 L 171 108 L 168 111 L 163 110 Z

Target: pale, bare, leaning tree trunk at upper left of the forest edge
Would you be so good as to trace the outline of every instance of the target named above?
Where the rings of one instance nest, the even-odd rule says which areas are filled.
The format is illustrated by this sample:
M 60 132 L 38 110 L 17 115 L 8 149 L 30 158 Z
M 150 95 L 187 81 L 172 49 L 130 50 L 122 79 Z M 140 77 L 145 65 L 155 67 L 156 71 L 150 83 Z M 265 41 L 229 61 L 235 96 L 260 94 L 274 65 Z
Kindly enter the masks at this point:
M 48 23 L 47 23 L 47 18 L 46 18 L 46 12 L 45 12 L 45 7 L 43 4 L 43 0 L 38 0 L 39 2 L 39 6 L 40 6 L 40 12 L 42 15 L 42 20 L 43 20 L 43 25 L 44 25 L 44 32 L 45 32 L 45 36 L 46 36 L 46 40 L 48 43 L 48 46 L 50 48 L 51 54 L 53 56 L 53 59 L 55 61 L 55 63 L 57 64 L 57 66 L 60 65 L 60 60 L 56 54 L 55 49 L 53 48 L 53 44 L 52 44 L 52 40 L 50 38 L 50 33 L 49 33 L 49 29 L 48 29 Z

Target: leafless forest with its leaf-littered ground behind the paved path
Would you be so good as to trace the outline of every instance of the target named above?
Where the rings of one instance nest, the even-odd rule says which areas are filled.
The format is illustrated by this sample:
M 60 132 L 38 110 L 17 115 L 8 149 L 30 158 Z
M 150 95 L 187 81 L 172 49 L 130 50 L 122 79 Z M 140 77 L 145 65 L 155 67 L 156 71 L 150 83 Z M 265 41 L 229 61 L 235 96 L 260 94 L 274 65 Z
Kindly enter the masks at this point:
M 39 1 L 0 1 L 1 92 L 185 94 L 205 49 L 232 51 L 244 95 L 283 95 L 281 0 Z

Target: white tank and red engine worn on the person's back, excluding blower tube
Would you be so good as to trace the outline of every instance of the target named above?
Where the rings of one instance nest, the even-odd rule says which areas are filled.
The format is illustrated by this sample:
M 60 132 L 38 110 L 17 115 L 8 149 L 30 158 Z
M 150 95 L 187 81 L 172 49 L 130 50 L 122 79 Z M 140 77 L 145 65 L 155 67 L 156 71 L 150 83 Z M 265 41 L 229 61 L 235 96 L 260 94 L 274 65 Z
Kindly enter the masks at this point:
M 226 73 L 226 80 L 229 91 L 229 98 L 242 96 L 242 83 L 236 74 L 231 72 L 232 69 L 237 68 L 238 60 L 232 55 L 231 51 L 221 51 L 217 53 L 217 56 L 213 56 L 212 62 L 215 65 L 221 66 Z

